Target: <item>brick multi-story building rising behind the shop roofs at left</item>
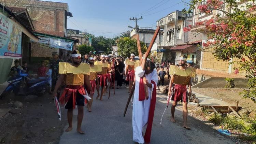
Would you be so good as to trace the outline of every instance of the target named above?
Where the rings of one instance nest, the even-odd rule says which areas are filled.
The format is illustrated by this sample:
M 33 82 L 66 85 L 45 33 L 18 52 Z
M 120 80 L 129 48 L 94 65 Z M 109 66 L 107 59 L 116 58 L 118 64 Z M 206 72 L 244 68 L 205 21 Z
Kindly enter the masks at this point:
M 13 0 L 0 0 L 0 2 L 3 2 L 5 5 L 17 7 L 16 1 Z M 38 62 L 45 58 L 51 58 L 52 52 L 58 52 L 59 55 L 64 58 L 69 49 L 56 47 L 58 45 L 57 43 L 63 42 L 67 44 L 67 46 L 70 47 L 71 45 L 75 48 L 75 43 L 79 40 L 66 37 L 67 18 L 72 17 L 72 13 L 69 12 L 68 3 L 24 0 L 19 2 L 18 7 L 27 9 L 34 26 L 34 33 L 39 37 L 49 38 L 51 42 L 53 42 L 52 45 L 54 45 L 49 46 L 49 44 L 32 41 L 29 45 L 29 62 Z

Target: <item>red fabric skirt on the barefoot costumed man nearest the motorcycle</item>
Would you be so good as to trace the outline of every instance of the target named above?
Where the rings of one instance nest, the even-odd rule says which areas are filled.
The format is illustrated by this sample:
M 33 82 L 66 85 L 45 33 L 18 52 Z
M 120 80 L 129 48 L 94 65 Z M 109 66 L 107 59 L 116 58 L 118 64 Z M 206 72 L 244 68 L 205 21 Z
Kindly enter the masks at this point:
M 65 104 L 65 103 L 68 102 L 70 97 L 72 97 L 72 99 L 73 99 L 73 109 L 75 109 L 76 93 L 77 92 L 79 92 L 81 95 L 88 95 L 84 86 L 67 85 L 67 87 L 62 92 L 62 95 L 60 96 L 59 102 L 61 104 Z M 85 103 L 87 103 L 86 99 L 85 99 Z

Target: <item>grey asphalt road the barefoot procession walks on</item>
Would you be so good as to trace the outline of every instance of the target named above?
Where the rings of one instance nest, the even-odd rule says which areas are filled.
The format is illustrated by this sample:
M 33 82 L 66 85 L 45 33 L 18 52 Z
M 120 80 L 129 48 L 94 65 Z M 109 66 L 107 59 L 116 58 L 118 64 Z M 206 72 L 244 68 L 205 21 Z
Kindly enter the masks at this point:
M 125 104 L 128 98 L 128 89 L 115 89 L 115 95 L 108 100 L 108 96 L 103 97 L 103 101 L 94 100 L 93 112 L 84 111 L 82 129 L 84 135 L 76 132 L 76 116 L 74 111 L 73 130 L 64 132 L 60 137 L 60 144 L 134 144 L 132 140 L 132 106 L 128 107 L 126 116 L 123 117 Z M 171 123 L 170 107 L 167 109 L 162 126 L 159 120 L 166 106 L 166 96 L 157 93 L 155 115 L 153 121 L 151 143 L 152 144 L 229 144 L 233 141 L 219 134 L 211 126 L 193 117 L 188 117 L 188 124 L 191 130 L 182 127 L 182 112 L 175 111 L 176 123 Z M 62 109 L 62 113 L 67 111 Z M 63 118 L 66 120 L 67 118 Z M 66 127 L 67 128 L 67 127 Z M 66 129 L 65 128 L 65 129 Z

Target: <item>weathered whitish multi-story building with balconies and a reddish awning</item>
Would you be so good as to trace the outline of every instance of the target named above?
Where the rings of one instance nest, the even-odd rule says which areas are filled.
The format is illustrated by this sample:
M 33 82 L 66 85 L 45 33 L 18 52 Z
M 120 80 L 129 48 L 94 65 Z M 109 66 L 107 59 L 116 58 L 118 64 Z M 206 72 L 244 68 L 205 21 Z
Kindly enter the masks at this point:
M 182 11 L 174 11 L 157 21 L 160 26 L 157 38 L 157 47 L 165 49 L 162 55 L 162 61 L 169 61 L 177 64 L 179 56 L 187 54 L 189 60 L 196 63 L 198 41 L 192 42 L 188 39 L 189 33 L 183 31 L 184 27 L 192 24 L 192 13 L 183 13 Z

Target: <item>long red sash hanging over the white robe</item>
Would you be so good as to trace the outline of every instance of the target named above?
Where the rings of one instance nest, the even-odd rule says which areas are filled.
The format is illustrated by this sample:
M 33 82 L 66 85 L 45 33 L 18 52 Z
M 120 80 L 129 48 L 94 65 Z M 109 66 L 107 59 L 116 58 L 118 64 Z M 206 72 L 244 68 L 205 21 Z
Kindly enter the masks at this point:
M 151 131 L 152 131 L 152 124 L 153 124 L 153 118 L 155 113 L 155 106 L 156 106 L 156 83 L 154 81 L 151 81 L 151 84 L 154 85 L 154 89 L 151 96 L 150 101 L 150 110 L 148 113 L 148 121 L 147 121 L 147 128 L 144 135 L 144 141 L 145 143 L 150 142 L 151 137 Z M 140 86 L 139 86 L 139 101 L 145 100 L 145 92 L 144 92 L 144 86 L 143 86 L 143 78 L 140 78 Z

